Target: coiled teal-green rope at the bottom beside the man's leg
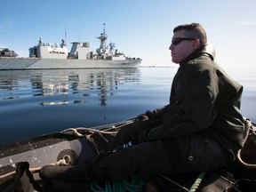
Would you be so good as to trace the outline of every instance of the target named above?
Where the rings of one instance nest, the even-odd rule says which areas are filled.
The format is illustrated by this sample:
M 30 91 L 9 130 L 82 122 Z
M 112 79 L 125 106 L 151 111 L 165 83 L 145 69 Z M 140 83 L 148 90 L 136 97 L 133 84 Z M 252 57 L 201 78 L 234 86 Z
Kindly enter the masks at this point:
M 131 177 L 128 180 L 106 180 L 104 187 L 98 182 L 91 183 L 92 192 L 142 192 L 145 185 L 145 178 Z

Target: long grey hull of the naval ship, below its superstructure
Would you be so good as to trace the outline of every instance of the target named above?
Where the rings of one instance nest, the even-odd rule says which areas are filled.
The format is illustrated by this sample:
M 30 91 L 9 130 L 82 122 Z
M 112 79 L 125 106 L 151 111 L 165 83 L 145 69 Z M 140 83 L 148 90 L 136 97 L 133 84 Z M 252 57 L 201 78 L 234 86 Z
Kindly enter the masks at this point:
M 58 68 L 138 68 L 141 60 L 61 60 L 0 58 L 0 70 Z

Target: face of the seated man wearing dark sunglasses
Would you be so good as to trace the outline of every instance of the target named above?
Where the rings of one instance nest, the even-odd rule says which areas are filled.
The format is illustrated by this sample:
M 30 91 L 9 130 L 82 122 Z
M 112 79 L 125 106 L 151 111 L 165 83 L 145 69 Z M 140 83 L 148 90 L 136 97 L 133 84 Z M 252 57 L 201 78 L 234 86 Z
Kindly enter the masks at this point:
M 180 63 L 185 60 L 189 54 L 196 50 L 195 40 L 185 33 L 185 30 L 176 31 L 172 36 L 172 44 L 169 47 L 172 55 L 172 62 Z

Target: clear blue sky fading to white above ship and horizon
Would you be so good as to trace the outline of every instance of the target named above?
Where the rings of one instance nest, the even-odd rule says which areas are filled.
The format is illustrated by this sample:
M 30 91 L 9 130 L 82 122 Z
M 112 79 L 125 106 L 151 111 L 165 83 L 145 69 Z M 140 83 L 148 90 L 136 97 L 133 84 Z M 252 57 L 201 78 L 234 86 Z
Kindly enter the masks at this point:
M 0 4 L 0 48 L 28 57 L 28 48 L 44 43 L 89 42 L 105 23 L 107 43 L 141 58 L 141 66 L 175 66 L 169 46 L 172 30 L 200 23 L 223 68 L 256 68 L 255 0 L 12 0 Z M 66 36 L 65 36 L 66 34 Z

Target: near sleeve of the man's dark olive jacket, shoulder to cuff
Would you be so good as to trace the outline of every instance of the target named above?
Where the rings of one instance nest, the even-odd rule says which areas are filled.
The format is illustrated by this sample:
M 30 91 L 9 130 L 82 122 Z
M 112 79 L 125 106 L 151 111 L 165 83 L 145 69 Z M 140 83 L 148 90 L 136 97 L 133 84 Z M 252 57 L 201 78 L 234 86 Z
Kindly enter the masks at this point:
M 219 92 L 218 76 L 210 60 L 197 60 L 196 63 L 194 60 L 182 66 L 172 86 L 171 110 L 164 114 L 164 124 L 148 132 L 150 140 L 202 131 L 216 116 L 214 102 Z

